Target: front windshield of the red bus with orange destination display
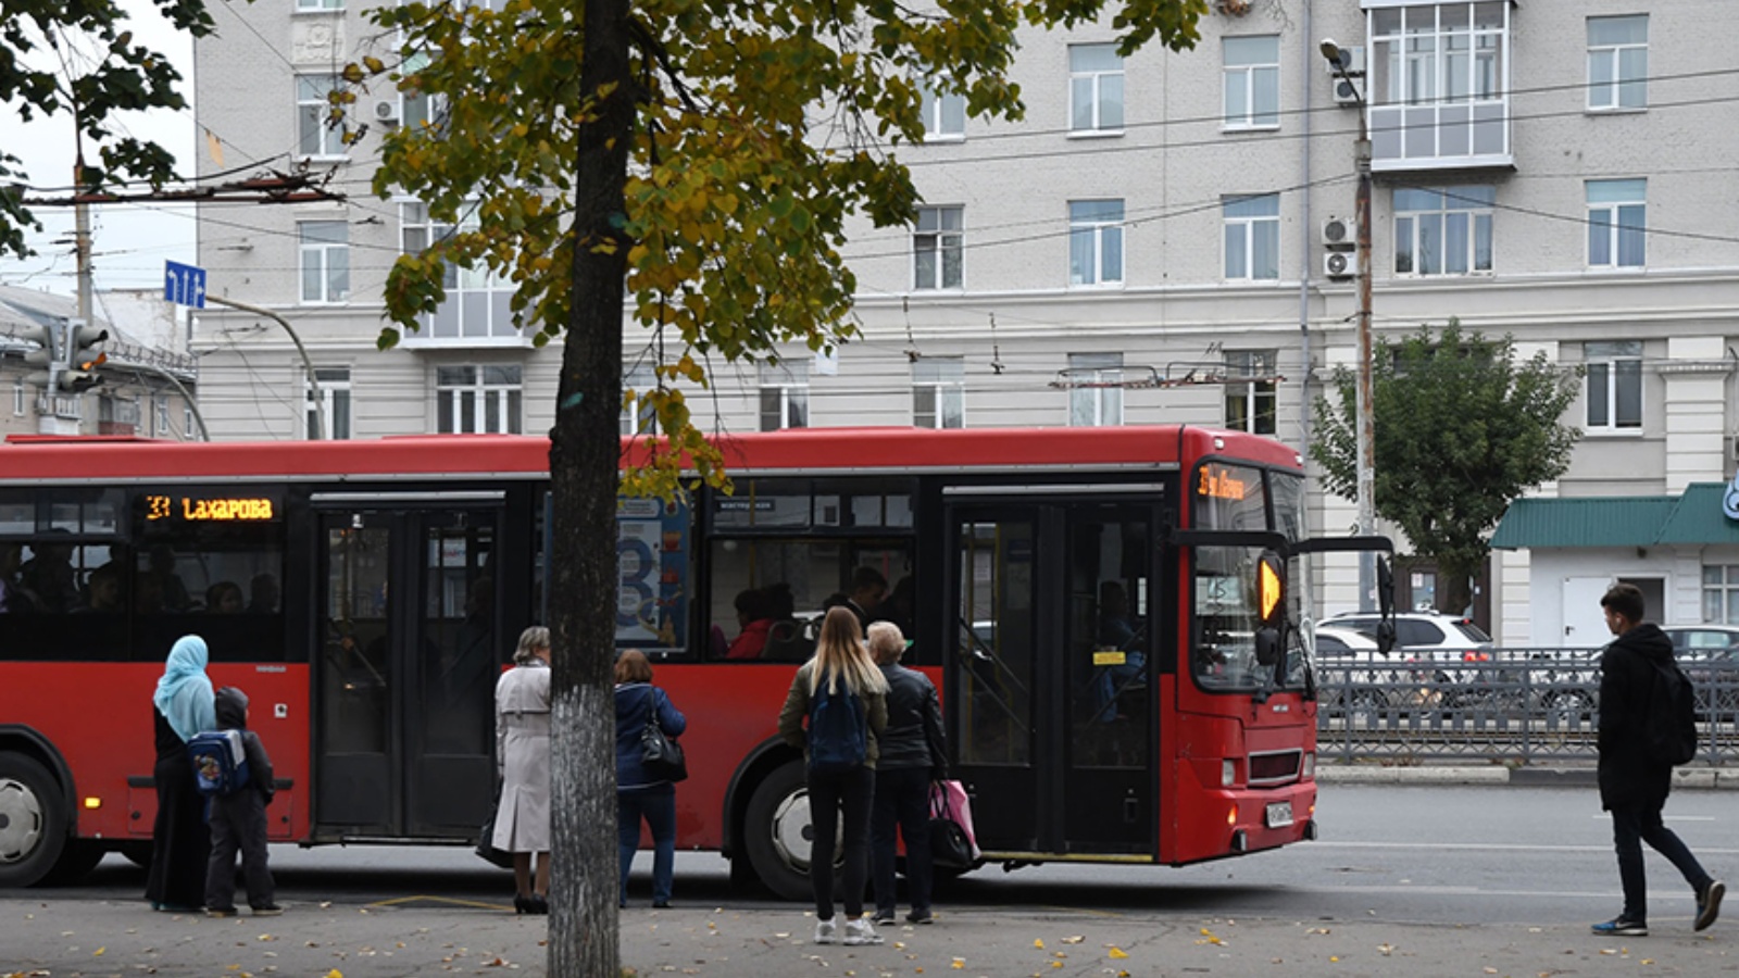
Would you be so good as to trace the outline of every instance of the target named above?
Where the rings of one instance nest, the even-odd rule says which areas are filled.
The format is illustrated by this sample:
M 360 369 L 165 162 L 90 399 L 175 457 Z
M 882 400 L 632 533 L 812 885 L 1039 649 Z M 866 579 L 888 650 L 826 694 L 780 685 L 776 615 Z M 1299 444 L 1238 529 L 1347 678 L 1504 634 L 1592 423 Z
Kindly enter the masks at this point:
M 1207 463 L 1196 472 L 1193 522 L 1202 531 L 1280 531 L 1289 541 L 1303 536 L 1303 484 L 1289 473 Z M 1269 505 L 1273 513 L 1269 513 Z M 1271 522 L 1269 522 L 1271 520 Z M 1257 567 L 1263 548 L 1200 545 L 1195 548 L 1195 630 L 1189 670 L 1203 689 L 1238 693 L 1297 689 L 1304 684 L 1304 656 L 1296 630 L 1287 630 L 1283 670 L 1256 658 Z M 1287 574 L 1287 616 L 1297 621 L 1297 562 Z

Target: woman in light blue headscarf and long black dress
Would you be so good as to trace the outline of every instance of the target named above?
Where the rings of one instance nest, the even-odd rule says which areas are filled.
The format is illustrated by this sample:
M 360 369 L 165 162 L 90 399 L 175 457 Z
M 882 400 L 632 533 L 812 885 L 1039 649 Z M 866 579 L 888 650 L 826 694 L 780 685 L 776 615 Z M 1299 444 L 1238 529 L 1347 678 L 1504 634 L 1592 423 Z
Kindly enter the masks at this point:
M 205 799 L 193 783 L 193 762 L 188 760 L 193 734 L 217 727 L 205 660 L 205 639 L 177 639 L 151 696 L 157 707 L 157 767 L 151 771 L 157 823 L 151 828 L 151 874 L 144 884 L 151 910 L 184 914 L 205 903 L 210 834 L 205 828 Z

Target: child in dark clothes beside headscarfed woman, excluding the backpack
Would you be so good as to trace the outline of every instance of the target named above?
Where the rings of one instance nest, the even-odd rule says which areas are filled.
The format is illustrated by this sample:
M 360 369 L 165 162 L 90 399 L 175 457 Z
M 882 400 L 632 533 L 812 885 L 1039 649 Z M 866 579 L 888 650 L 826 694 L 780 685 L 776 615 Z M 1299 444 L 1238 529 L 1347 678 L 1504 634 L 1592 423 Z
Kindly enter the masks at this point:
M 266 868 L 266 806 L 271 804 L 271 759 L 259 734 L 247 729 L 247 694 L 233 686 L 217 691 L 217 729 L 242 731 L 247 752 L 245 788 L 230 795 L 212 795 L 212 860 L 205 872 L 205 914 L 235 917 L 235 854 L 242 853 L 247 901 L 256 917 L 283 910 L 273 903 L 271 870 Z

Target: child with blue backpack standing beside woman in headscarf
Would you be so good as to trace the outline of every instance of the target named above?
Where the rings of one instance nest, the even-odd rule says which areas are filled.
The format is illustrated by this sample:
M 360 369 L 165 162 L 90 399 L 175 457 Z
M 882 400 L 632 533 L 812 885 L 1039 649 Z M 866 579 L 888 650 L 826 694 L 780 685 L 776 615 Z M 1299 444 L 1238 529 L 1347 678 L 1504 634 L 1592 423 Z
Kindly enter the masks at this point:
M 224 750 L 203 752 L 210 734 L 190 743 L 200 792 L 209 800 L 212 858 L 205 872 L 205 914 L 235 917 L 235 854 L 242 853 L 247 901 L 256 917 L 275 917 L 283 910 L 271 901 L 271 870 L 266 868 L 266 806 L 271 804 L 271 759 L 259 734 L 247 729 L 247 694 L 233 686 L 217 691 L 217 733 Z M 240 734 L 240 736 L 235 736 Z M 242 759 L 230 745 L 240 740 Z

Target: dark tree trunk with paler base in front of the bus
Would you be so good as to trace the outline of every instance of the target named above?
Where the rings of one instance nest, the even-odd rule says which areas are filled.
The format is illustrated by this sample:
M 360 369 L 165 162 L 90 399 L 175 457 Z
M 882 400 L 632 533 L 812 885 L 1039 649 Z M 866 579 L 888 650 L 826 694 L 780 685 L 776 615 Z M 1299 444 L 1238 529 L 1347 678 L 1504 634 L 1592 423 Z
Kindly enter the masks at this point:
M 556 388 L 550 480 L 551 846 L 550 975 L 617 978 L 616 489 L 619 482 L 621 240 L 635 85 L 628 0 L 586 0 L 579 84 L 616 89 L 579 129 L 574 292 Z M 617 247 L 600 251 L 596 245 Z

